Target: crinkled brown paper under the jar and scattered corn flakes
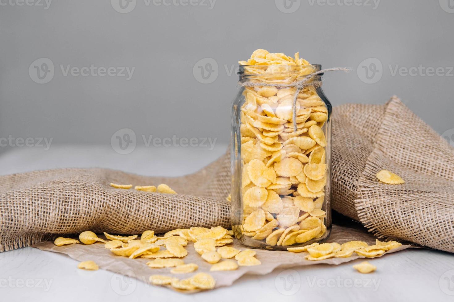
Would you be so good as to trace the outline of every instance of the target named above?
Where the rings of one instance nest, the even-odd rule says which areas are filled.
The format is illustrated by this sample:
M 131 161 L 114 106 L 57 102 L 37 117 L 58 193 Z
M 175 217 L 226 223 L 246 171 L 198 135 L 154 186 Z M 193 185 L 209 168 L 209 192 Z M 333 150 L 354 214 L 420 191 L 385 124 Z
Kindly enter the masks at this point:
M 104 238 L 103 236 L 100 237 Z M 337 242 L 339 244 L 342 244 L 351 240 L 362 240 L 370 245 L 375 244 L 375 237 L 372 234 L 368 233 L 360 225 L 354 227 L 333 225 L 331 235 L 328 238 L 327 242 Z M 233 246 L 237 249 L 247 248 L 243 246 L 238 240 L 234 240 L 232 244 L 227 245 Z M 126 274 L 129 277 L 137 278 L 138 280 L 141 280 L 143 282 L 149 282 L 148 278 L 151 275 L 156 274 L 169 277 L 174 276 L 176 278 L 188 278 L 195 273 L 209 273 L 216 280 L 215 288 L 230 286 L 235 280 L 239 279 L 244 274 L 265 275 L 267 273 L 270 273 L 275 268 L 289 268 L 312 264 L 338 265 L 358 258 L 365 258 L 353 253 L 354 255 L 349 258 L 331 258 L 320 261 L 310 261 L 304 258 L 304 256 L 307 255 L 307 252 L 292 253 L 287 251 L 269 251 L 256 249 L 256 257 L 262 262 L 261 265 L 240 266 L 237 270 L 234 271 L 210 272 L 211 264 L 205 262 L 194 250 L 192 242 L 189 242 L 186 246 L 188 255 L 183 258 L 183 261 L 186 264 L 195 263 L 199 268 L 194 273 L 172 274 L 170 273 L 171 268 L 149 268 L 146 263 L 153 259 L 129 259 L 127 257 L 114 255 L 112 254 L 112 252 L 110 252 L 109 249 L 104 248 L 103 243 L 96 243 L 91 245 L 70 244 L 66 246 L 56 246 L 52 241 L 45 241 L 42 243 L 34 244 L 32 246 L 41 250 L 66 254 L 78 261 L 93 260 L 99 265 L 100 268 L 107 269 L 114 273 Z M 384 255 L 394 253 L 402 249 L 407 249 L 410 246 L 411 245 L 402 245 L 399 248 L 386 252 Z M 196 291 L 191 291 L 188 293 L 192 292 Z

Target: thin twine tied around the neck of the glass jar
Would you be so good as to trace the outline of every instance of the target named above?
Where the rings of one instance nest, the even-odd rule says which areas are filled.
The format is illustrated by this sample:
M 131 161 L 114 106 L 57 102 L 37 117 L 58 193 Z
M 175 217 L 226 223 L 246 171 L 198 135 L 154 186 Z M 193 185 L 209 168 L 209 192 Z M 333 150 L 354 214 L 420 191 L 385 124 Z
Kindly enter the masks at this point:
M 338 71 L 341 70 L 343 72 L 349 72 L 350 68 L 344 68 L 344 67 L 334 67 L 334 68 L 327 68 L 327 69 L 322 69 L 318 72 L 313 72 L 301 81 L 295 81 L 290 84 L 271 84 L 271 83 L 257 83 L 257 82 L 252 82 L 252 81 L 244 81 L 244 82 L 238 82 L 238 85 L 244 87 L 254 87 L 254 86 L 273 86 L 273 87 L 295 87 L 296 92 L 295 96 L 293 96 L 293 105 L 292 105 L 292 118 L 293 118 L 293 129 L 295 131 L 297 130 L 296 127 L 296 100 L 298 99 L 298 94 L 300 93 L 301 89 L 308 87 L 308 86 L 314 86 L 314 87 L 319 87 L 321 86 L 321 81 L 311 81 L 314 77 L 321 75 L 324 72 L 330 72 L 330 71 Z

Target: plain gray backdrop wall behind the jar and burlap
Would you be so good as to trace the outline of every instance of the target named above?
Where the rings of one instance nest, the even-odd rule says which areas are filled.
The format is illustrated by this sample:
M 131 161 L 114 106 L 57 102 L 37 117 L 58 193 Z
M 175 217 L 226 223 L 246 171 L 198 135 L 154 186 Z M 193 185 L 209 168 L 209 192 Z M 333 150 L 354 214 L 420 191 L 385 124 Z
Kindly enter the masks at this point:
M 351 67 L 324 77 L 333 105 L 395 94 L 440 134 L 454 131 L 453 0 L 0 4 L 0 138 L 110 144 L 128 128 L 138 145 L 227 143 L 234 69 L 256 48 Z

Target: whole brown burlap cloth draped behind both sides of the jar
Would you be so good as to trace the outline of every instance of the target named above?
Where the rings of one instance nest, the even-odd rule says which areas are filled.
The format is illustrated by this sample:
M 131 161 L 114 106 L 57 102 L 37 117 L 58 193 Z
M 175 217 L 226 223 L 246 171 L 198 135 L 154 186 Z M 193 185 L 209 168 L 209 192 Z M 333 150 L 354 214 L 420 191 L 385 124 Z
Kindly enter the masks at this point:
M 332 128 L 332 207 L 379 237 L 454 252 L 454 149 L 399 99 L 341 105 Z M 402 185 L 377 181 L 388 169 Z M 167 183 L 179 194 L 114 189 Z M 230 156 L 183 177 L 58 169 L 0 177 L 0 251 L 84 230 L 161 233 L 228 227 Z

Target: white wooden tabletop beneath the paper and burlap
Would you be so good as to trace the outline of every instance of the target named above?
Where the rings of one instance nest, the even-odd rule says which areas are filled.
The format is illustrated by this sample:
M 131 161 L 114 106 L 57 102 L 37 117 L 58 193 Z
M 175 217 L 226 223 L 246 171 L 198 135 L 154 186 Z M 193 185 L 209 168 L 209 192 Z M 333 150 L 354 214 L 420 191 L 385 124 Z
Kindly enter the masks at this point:
M 120 155 L 102 146 L 16 148 L 0 156 L 0 173 L 105 167 L 178 176 L 196 171 L 225 149 L 137 148 Z M 266 276 L 243 276 L 232 287 L 184 295 L 103 269 L 83 271 L 63 254 L 24 248 L 0 254 L 0 301 L 454 301 L 452 254 L 407 249 L 371 260 L 378 267 L 372 274 L 351 267 L 360 261 L 281 268 Z

